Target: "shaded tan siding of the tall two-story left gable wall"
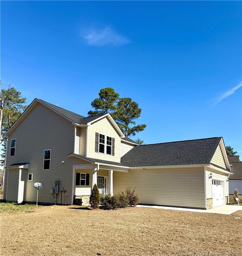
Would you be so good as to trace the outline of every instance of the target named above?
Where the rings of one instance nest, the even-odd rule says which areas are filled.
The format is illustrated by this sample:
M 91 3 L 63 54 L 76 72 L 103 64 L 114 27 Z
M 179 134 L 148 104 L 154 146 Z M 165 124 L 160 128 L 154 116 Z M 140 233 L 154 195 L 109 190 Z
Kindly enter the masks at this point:
M 11 141 L 12 138 L 16 138 L 16 154 L 10 157 L 8 147 L 7 166 L 14 163 L 29 163 L 27 173 L 33 173 L 33 182 L 25 182 L 25 200 L 36 202 L 36 189 L 33 183 L 40 182 L 43 188 L 39 191 L 39 202 L 50 203 L 50 189 L 54 187 L 55 180 L 60 180 L 60 187 L 64 187 L 69 195 L 66 203 L 70 204 L 74 161 L 67 155 L 74 149 L 72 123 L 48 107 L 37 103 L 9 135 L 8 140 Z M 50 170 L 43 170 L 45 149 L 51 149 Z M 76 161 L 77 164 L 79 162 Z M 9 173 L 11 171 L 9 170 Z M 12 188 L 11 177 L 8 180 L 10 181 L 8 192 L 15 191 Z M 8 194 L 7 200 L 10 198 Z

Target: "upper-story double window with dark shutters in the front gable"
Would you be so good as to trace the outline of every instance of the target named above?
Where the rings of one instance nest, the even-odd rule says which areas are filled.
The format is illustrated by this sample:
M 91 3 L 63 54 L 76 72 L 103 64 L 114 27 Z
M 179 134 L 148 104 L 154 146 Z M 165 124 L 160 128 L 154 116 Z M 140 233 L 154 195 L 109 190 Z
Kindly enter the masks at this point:
M 115 139 L 97 132 L 95 136 L 95 152 L 114 155 Z

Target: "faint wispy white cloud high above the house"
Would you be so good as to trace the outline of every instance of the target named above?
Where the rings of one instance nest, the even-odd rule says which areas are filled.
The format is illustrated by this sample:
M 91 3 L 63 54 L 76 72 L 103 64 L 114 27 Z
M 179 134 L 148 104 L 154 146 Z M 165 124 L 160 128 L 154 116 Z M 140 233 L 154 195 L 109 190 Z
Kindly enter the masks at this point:
M 130 40 L 116 33 L 112 28 L 90 29 L 83 36 L 88 45 L 104 46 L 104 45 L 125 45 L 130 43 Z

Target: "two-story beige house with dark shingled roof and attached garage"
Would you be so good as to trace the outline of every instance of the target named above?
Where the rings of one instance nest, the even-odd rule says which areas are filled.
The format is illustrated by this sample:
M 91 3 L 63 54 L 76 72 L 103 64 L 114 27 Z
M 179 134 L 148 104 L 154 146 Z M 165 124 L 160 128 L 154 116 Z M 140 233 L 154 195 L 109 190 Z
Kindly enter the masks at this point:
M 228 202 L 231 174 L 222 137 L 138 145 L 109 114 L 84 116 L 40 99 L 4 135 L 8 139 L 4 197 L 88 204 L 101 194 L 136 188 L 144 204 L 208 209 Z M 61 197 L 60 197 L 61 194 Z

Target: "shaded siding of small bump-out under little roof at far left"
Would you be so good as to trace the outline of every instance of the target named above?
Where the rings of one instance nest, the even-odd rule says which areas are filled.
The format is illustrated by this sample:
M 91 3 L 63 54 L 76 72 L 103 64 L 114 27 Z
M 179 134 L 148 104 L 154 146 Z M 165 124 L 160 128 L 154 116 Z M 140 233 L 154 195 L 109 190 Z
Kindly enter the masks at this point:
M 7 200 L 17 202 L 18 191 L 19 191 L 19 169 L 9 170 L 8 176 L 9 177 L 8 177 Z

